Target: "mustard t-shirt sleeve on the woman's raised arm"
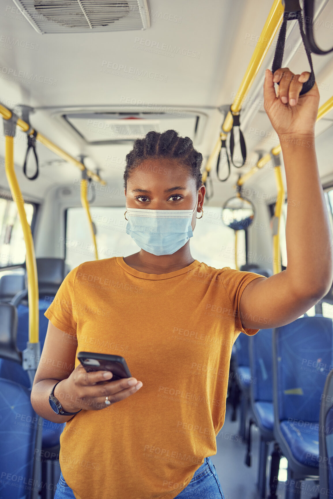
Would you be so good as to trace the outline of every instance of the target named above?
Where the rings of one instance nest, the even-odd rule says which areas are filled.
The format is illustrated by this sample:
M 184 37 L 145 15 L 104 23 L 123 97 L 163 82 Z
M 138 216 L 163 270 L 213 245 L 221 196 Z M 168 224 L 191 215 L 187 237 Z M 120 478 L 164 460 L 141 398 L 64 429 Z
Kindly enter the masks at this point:
M 257 279 L 258 277 L 264 277 L 263 275 L 256 274 L 255 272 L 244 272 L 242 270 L 234 270 L 230 267 L 225 267 L 220 274 L 220 279 L 222 284 L 227 291 L 229 299 L 231 301 L 231 306 L 235 312 L 235 332 L 245 333 L 249 336 L 256 334 L 259 329 L 244 328 L 242 325 L 242 320 L 240 316 L 239 306 L 241 301 L 241 296 L 246 288 L 246 286 Z M 264 277 L 267 279 L 267 277 Z M 262 318 L 263 319 L 263 318 Z M 260 317 L 258 317 L 258 322 L 260 323 Z

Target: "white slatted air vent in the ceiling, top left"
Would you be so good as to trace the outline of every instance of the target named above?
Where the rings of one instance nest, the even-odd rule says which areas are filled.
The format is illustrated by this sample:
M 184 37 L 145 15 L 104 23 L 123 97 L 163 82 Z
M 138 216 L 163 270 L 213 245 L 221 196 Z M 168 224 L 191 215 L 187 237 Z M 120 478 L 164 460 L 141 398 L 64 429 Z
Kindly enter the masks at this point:
M 40 33 L 146 29 L 147 0 L 13 0 Z

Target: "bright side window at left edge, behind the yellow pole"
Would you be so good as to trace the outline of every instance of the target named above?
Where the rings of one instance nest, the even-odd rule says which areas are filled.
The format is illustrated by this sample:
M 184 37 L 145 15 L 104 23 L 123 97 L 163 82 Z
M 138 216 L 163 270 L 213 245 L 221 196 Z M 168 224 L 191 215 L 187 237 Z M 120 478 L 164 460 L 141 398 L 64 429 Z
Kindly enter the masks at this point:
M 24 203 L 24 209 L 31 227 L 34 207 Z M 24 261 L 25 244 L 16 205 L 12 200 L 0 198 L 0 267 L 23 264 Z

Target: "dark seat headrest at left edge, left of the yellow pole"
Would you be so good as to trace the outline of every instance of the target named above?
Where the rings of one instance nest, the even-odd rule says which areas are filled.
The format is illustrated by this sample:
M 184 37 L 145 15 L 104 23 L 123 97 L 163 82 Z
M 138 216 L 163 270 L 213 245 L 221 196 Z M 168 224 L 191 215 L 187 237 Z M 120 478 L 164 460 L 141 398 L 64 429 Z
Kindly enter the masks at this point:
M 10 303 L 0 303 L 0 358 L 22 364 L 22 353 L 16 347 L 17 311 Z

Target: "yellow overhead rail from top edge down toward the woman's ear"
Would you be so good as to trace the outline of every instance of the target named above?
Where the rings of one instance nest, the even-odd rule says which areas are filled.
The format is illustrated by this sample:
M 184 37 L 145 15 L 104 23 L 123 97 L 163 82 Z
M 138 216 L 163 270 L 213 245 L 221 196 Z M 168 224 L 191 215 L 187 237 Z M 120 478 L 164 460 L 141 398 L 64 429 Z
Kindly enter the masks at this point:
M 272 8 L 268 14 L 263 30 L 257 42 L 256 48 L 252 54 L 251 60 L 243 77 L 242 83 L 234 99 L 234 102 L 230 106 L 230 110 L 225 116 L 224 122 L 222 124 L 222 131 L 220 133 L 220 137 L 216 142 L 215 147 L 206 163 L 205 170 L 202 174 L 202 181 L 204 184 L 206 183 L 207 177 L 210 174 L 213 161 L 217 156 L 218 151 L 221 150 L 221 145 L 222 145 L 221 141 L 226 140 L 227 134 L 233 128 L 234 124 L 233 113 L 235 113 L 235 115 L 237 116 L 239 115 L 239 112 L 242 108 L 242 103 L 246 95 L 248 94 L 250 87 L 255 77 L 257 76 L 260 66 L 266 56 L 266 53 L 272 44 L 276 32 L 282 23 L 283 12 L 284 12 L 284 7 L 281 0 L 274 0 Z

